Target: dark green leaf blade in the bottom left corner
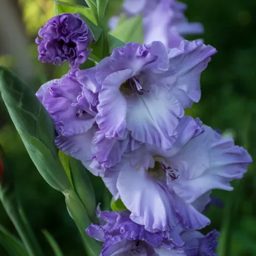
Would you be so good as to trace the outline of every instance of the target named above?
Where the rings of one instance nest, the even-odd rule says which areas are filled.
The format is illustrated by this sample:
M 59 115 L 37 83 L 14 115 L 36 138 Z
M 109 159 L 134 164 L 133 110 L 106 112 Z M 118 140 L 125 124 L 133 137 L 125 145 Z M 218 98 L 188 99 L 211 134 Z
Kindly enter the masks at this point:
M 10 256 L 29 256 L 23 243 L 0 225 L 0 244 Z

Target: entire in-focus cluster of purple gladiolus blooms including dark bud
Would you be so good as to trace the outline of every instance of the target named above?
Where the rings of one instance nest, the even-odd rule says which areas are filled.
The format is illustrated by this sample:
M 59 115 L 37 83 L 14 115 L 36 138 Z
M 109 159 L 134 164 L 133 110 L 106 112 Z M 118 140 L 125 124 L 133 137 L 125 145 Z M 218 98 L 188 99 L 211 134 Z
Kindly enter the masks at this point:
M 132 7 L 135 0 L 126 2 Z M 138 2 L 148 12 L 146 0 Z M 162 2 L 177 9 L 179 32 L 184 6 Z M 202 211 L 211 191 L 232 190 L 229 182 L 252 161 L 231 138 L 184 114 L 201 98 L 201 72 L 216 49 L 199 40 L 167 48 L 127 43 L 81 70 L 92 40 L 78 15 L 52 18 L 40 36 L 40 60 L 71 65 L 37 92 L 54 120 L 56 146 L 101 176 L 127 208 L 98 209 L 103 222 L 87 233 L 104 242 L 101 255 L 215 255 L 219 233 L 197 231 L 210 224 Z

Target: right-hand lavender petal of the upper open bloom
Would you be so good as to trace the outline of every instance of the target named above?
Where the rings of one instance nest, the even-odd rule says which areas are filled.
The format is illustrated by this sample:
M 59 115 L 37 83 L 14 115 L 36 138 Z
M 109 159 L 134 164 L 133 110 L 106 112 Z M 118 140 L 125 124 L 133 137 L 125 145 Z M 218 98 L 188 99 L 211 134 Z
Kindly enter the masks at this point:
M 193 102 L 201 98 L 200 76 L 201 72 L 210 62 L 210 57 L 216 53 L 212 46 L 206 46 L 201 41 L 183 40 L 179 50 L 172 49 L 169 52 L 170 76 L 176 76 L 176 82 L 172 85 L 172 93 L 176 96 L 184 108 L 190 107 Z M 175 71 L 174 71 L 175 70 Z M 162 82 L 168 83 L 168 79 Z

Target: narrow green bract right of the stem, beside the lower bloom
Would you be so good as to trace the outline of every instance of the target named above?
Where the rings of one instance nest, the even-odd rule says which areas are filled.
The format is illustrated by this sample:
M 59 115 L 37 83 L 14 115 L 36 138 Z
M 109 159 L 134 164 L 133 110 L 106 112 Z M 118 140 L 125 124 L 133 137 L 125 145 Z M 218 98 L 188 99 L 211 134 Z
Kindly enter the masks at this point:
M 69 157 L 69 164 L 74 184 L 74 190 L 79 196 L 80 200 L 87 209 L 88 216 L 91 221 L 96 220 L 96 199 L 91 185 L 90 178 L 87 175 L 87 169 L 85 169 L 82 163 L 72 157 Z

